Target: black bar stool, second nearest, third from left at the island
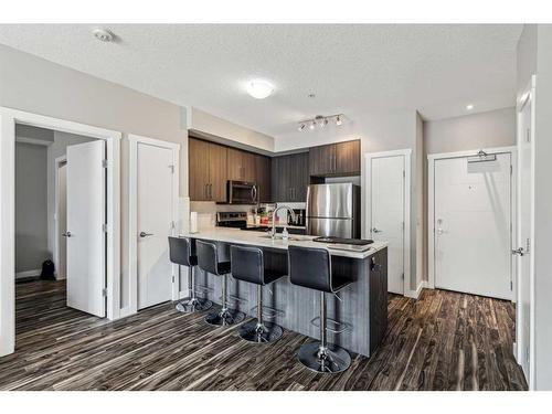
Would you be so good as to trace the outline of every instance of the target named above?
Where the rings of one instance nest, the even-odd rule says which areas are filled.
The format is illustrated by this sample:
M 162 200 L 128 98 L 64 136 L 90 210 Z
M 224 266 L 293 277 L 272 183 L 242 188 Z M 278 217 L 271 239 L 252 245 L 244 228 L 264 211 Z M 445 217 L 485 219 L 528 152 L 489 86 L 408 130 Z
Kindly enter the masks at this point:
M 265 268 L 263 251 L 258 247 L 230 246 L 232 277 L 257 285 L 257 319 L 240 328 L 240 337 L 250 342 L 274 342 L 282 338 L 283 329 L 263 320 L 263 286 L 286 276 Z

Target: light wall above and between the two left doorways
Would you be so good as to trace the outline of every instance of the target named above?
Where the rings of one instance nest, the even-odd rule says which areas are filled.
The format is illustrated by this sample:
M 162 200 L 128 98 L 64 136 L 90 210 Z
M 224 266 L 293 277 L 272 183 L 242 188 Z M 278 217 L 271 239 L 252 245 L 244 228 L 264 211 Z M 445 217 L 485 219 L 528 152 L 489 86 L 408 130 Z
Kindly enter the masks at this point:
M 123 132 L 121 307 L 129 302 L 128 134 L 181 144 L 180 195 L 188 195 L 188 131 L 181 107 L 0 45 L 0 106 Z M 184 115 L 184 119 L 182 119 Z

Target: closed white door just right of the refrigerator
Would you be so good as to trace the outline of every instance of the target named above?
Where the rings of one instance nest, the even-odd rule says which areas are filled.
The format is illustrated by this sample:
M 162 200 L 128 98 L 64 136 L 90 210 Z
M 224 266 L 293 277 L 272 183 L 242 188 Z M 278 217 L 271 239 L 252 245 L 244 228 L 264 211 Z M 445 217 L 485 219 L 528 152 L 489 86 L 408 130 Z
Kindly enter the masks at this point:
M 369 180 L 370 237 L 388 242 L 388 290 L 404 295 L 405 157 L 373 158 Z

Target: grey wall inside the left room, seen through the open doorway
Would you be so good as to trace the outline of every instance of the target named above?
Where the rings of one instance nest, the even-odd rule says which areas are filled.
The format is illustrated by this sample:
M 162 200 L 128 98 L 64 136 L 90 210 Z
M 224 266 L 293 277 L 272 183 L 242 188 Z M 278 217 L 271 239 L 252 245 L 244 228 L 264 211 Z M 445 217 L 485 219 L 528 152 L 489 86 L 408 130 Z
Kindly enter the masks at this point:
M 46 147 L 15 142 L 15 274 L 39 270 L 47 248 Z M 26 276 L 36 276 L 26 275 Z

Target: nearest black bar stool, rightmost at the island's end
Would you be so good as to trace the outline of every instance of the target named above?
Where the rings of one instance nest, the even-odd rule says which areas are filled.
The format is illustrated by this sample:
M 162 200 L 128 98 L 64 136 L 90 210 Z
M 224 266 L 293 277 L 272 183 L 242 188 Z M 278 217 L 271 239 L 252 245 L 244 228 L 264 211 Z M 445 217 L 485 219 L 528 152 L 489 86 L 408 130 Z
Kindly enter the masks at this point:
M 326 339 L 326 294 L 336 294 L 351 284 L 333 277 L 331 257 L 326 248 L 288 247 L 288 272 L 291 284 L 320 293 L 320 342 L 305 343 L 297 358 L 306 368 L 316 372 L 341 372 L 351 364 L 351 355 L 343 348 Z

